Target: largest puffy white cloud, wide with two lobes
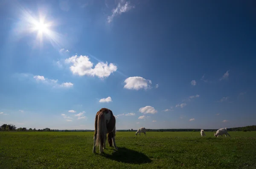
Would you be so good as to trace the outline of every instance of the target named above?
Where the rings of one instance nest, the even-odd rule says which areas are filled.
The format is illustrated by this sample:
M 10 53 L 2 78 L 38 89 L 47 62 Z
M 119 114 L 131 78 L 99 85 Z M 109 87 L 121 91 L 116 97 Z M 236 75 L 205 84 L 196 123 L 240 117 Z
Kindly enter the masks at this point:
M 73 74 L 78 74 L 79 76 L 98 76 L 99 78 L 104 78 L 110 76 L 111 73 L 117 70 L 116 65 L 108 62 L 99 62 L 93 68 L 93 63 L 90 62 L 88 56 L 72 56 L 68 59 L 65 59 L 66 63 L 72 63 L 70 66 L 70 71 Z

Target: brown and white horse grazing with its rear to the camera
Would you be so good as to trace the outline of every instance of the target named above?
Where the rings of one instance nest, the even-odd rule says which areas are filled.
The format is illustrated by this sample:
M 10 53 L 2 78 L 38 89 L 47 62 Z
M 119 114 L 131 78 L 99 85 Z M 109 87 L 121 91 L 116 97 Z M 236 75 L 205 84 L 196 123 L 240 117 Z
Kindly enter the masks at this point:
M 93 153 L 96 152 L 96 146 L 99 146 L 100 153 L 104 153 L 103 149 L 106 149 L 106 135 L 108 134 L 109 146 L 116 147 L 116 118 L 112 111 L 107 108 L 99 110 L 95 117 L 95 132 L 93 141 Z

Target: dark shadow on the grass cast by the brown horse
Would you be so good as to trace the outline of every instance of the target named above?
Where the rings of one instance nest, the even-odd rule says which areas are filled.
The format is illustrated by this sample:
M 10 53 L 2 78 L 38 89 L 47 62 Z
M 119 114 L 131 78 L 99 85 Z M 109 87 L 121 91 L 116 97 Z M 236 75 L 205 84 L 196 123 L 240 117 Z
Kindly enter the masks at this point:
M 131 149 L 127 149 L 125 147 L 118 147 L 118 150 L 113 152 L 111 155 L 105 154 L 104 156 L 111 160 L 119 161 L 122 163 L 151 163 L 151 159 L 148 158 L 148 156 L 146 156 L 145 154 Z

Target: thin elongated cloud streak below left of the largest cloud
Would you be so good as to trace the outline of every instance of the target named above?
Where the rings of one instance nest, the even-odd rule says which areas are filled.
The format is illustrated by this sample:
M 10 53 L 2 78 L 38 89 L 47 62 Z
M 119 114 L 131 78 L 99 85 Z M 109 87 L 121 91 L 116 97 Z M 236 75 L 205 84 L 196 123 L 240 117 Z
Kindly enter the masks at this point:
M 40 75 L 36 75 L 33 76 L 33 78 L 37 81 L 37 82 L 41 82 L 47 85 L 52 85 L 53 87 L 64 87 L 64 88 L 69 88 L 69 87 L 73 87 L 73 83 L 70 82 L 65 82 L 62 84 L 58 84 L 58 79 L 54 80 L 54 79 L 47 79 L 44 76 L 40 76 Z

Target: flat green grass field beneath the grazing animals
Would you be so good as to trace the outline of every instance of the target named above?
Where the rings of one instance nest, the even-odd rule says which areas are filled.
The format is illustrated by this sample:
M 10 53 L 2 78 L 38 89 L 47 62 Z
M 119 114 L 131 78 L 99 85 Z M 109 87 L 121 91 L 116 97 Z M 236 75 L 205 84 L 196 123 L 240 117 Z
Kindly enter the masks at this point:
M 115 151 L 93 150 L 93 132 L 0 132 L 0 169 L 256 168 L 256 132 L 117 132 Z

